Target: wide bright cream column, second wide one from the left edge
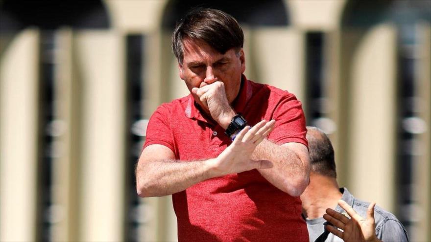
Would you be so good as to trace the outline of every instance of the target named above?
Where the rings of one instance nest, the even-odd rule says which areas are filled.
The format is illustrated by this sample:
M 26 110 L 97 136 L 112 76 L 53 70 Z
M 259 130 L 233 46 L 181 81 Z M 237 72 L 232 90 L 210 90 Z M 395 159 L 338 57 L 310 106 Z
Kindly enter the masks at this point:
M 116 31 L 74 38 L 82 79 L 81 241 L 122 241 L 124 229 L 124 40 Z

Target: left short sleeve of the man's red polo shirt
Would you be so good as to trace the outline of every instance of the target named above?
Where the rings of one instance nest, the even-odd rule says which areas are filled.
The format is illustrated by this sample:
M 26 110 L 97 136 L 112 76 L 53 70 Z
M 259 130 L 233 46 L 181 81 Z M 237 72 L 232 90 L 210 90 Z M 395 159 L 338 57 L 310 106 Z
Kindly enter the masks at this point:
M 164 145 L 175 153 L 172 130 L 169 125 L 169 110 L 161 105 L 151 115 L 146 129 L 144 148 L 149 145 Z

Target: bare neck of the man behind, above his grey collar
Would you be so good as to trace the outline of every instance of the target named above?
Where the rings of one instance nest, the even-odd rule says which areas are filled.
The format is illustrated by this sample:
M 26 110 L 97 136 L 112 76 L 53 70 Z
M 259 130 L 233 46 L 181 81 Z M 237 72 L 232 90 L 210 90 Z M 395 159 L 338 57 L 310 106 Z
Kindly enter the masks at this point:
M 310 184 L 301 195 L 304 217 L 310 220 L 323 217 L 327 208 L 335 209 L 341 197 L 335 178 L 310 175 Z

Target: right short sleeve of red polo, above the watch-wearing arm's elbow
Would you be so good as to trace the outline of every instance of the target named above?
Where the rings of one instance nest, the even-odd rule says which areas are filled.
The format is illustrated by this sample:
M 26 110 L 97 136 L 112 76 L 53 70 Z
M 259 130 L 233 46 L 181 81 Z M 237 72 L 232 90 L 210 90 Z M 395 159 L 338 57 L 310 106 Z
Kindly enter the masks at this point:
M 273 112 L 275 128 L 269 134 L 268 139 L 281 145 L 288 142 L 304 144 L 308 147 L 306 139 L 305 116 L 302 105 L 295 95 L 288 93 L 281 99 Z

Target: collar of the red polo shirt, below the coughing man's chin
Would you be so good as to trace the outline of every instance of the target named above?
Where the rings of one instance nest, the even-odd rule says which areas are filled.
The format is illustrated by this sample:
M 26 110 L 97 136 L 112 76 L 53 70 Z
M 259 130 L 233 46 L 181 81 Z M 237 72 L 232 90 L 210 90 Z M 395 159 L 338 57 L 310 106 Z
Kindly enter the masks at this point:
M 239 93 L 237 98 L 232 103 L 232 106 L 237 113 L 242 113 L 247 102 L 250 100 L 252 96 L 252 87 L 250 85 L 250 81 L 247 80 L 245 75 L 241 75 L 241 87 L 239 88 Z M 203 121 L 206 123 L 213 123 L 214 120 L 209 117 L 206 113 L 201 111 L 198 107 L 198 104 L 194 101 L 192 94 L 188 96 L 187 106 L 184 111 L 186 117 L 191 119 L 196 119 L 199 121 Z

